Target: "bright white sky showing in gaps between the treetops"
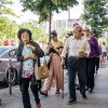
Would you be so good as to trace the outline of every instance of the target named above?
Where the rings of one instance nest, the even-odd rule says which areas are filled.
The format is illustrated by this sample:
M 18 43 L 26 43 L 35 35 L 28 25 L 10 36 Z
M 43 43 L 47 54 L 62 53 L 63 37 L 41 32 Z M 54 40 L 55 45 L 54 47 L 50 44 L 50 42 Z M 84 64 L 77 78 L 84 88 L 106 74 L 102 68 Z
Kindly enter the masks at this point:
M 11 8 L 21 17 L 17 19 L 13 17 L 11 18 L 16 21 L 17 23 L 27 22 L 29 19 L 38 19 L 38 16 L 33 15 L 30 11 L 27 11 L 25 13 L 22 12 L 23 8 L 19 3 L 19 0 L 12 0 L 12 1 L 14 1 L 15 3 Z M 78 0 L 78 1 L 80 2 L 79 5 L 76 5 L 70 10 L 70 18 L 80 18 L 81 13 L 83 13 L 83 5 L 82 5 L 83 0 Z M 68 13 L 66 11 L 59 14 L 54 13 L 54 16 L 53 16 L 54 21 L 55 19 L 67 19 L 67 18 L 68 18 Z

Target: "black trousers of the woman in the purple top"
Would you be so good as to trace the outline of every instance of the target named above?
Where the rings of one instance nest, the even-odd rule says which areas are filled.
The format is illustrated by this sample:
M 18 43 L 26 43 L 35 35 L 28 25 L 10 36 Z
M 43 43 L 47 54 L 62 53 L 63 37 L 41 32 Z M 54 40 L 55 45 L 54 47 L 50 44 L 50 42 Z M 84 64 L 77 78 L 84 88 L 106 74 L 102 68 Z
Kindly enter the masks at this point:
M 86 87 L 94 89 L 94 73 L 95 73 L 96 58 L 86 58 Z

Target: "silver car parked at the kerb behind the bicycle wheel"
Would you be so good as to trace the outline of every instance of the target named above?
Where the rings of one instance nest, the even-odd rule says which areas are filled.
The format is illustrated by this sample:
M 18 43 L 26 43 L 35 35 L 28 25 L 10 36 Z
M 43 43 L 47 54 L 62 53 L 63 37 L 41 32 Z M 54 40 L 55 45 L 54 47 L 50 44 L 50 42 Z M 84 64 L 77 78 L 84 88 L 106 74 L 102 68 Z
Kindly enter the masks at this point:
M 5 82 L 5 70 L 9 68 L 10 58 L 16 71 L 15 82 L 17 82 L 19 63 L 16 60 L 16 52 L 17 46 L 0 46 L 0 82 Z M 13 53 L 14 56 L 10 57 L 10 53 Z

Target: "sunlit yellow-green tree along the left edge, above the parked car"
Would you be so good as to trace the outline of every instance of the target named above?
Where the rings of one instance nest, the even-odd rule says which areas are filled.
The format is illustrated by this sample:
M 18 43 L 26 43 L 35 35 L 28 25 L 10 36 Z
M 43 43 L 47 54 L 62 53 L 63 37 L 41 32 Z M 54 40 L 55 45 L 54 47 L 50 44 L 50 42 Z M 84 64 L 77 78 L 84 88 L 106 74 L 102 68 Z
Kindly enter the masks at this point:
M 8 18 L 8 15 L 17 16 L 13 10 L 9 8 L 13 2 L 12 0 L 0 0 L 0 39 L 3 36 L 6 38 L 14 38 L 17 33 L 18 26 L 15 22 Z

